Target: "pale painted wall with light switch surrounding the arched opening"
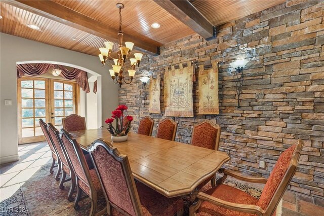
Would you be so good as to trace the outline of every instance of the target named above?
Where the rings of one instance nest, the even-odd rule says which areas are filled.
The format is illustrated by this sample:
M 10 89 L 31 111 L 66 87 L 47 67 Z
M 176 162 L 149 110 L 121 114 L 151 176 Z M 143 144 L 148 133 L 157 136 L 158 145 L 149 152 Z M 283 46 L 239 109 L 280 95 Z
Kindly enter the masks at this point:
M 16 64 L 30 61 L 58 63 L 97 75 L 98 126 L 118 104 L 118 86 L 112 84 L 108 69 L 102 68 L 98 57 L 1 33 L 0 163 L 18 160 Z M 5 106 L 5 99 L 12 100 L 12 106 Z

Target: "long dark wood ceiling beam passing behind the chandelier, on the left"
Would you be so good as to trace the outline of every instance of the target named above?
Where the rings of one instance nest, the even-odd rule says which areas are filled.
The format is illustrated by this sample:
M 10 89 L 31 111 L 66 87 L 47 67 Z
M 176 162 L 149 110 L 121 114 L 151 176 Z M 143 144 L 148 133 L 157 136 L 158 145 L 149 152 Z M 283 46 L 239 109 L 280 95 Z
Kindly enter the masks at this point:
M 118 29 L 58 3 L 52 1 L 0 1 L 118 44 Z M 133 42 L 135 49 L 148 54 L 159 54 L 159 46 L 161 44 L 145 36 L 143 38 L 145 39 L 142 41 L 130 34 L 124 33 L 124 42 Z

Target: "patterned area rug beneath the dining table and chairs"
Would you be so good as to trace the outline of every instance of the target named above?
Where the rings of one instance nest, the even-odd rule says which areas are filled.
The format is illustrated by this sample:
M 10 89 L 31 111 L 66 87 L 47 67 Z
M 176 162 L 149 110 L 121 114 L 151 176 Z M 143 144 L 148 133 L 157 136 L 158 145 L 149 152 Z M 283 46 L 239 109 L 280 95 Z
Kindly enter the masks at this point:
M 3 209 L 2 215 L 89 215 L 91 202 L 85 198 L 79 202 L 79 210 L 74 210 L 73 202 L 67 200 L 70 182 L 64 184 L 64 190 L 59 189 L 59 182 L 55 181 L 54 174 L 49 173 L 50 164 L 41 167 L 31 178 L 28 179 L 10 198 L 0 202 Z M 246 193 L 259 198 L 261 190 L 238 182 L 226 180 L 224 184 L 230 185 Z M 211 184 L 204 186 L 202 190 L 208 190 Z M 185 202 L 184 215 L 189 215 L 189 206 L 193 200 L 189 196 L 183 196 Z M 99 198 L 98 209 L 105 206 L 104 197 Z M 6 209 L 28 209 L 25 212 L 7 212 Z

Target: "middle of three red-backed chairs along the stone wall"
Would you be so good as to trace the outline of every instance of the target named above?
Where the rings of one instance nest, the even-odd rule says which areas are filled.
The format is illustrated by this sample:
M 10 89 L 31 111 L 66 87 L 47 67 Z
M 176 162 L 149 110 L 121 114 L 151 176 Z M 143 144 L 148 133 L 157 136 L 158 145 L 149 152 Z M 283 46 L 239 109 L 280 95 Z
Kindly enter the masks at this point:
M 158 123 L 156 137 L 174 141 L 176 138 L 178 123 L 166 118 Z

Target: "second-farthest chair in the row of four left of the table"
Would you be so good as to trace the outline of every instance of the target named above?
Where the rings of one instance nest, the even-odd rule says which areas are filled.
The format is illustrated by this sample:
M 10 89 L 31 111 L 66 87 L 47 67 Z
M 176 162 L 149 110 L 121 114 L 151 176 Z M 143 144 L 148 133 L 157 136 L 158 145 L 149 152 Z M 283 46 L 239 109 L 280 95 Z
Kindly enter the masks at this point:
M 53 141 L 53 144 L 55 146 L 57 155 L 58 155 L 58 163 L 59 163 L 59 168 L 57 170 L 57 177 L 59 176 L 60 172 L 62 171 L 62 177 L 60 179 L 60 189 L 64 189 L 63 184 L 71 181 L 71 186 L 70 186 L 70 190 L 67 196 L 67 199 L 72 202 L 74 199 L 72 197 L 73 194 L 73 190 L 75 188 L 75 174 L 74 171 L 70 169 L 70 166 L 67 163 L 67 156 L 64 154 L 63 152 L 63 143 L 60 137 L 60 132 L 53 126 L 52 123 L 48 124 L 48 128 L 49 128 L 49 134 L 50 134 L 50 138 Z M 70 176 L 70 178 L 65 179 L 66 178 L 66 174 L 68 174 Z

